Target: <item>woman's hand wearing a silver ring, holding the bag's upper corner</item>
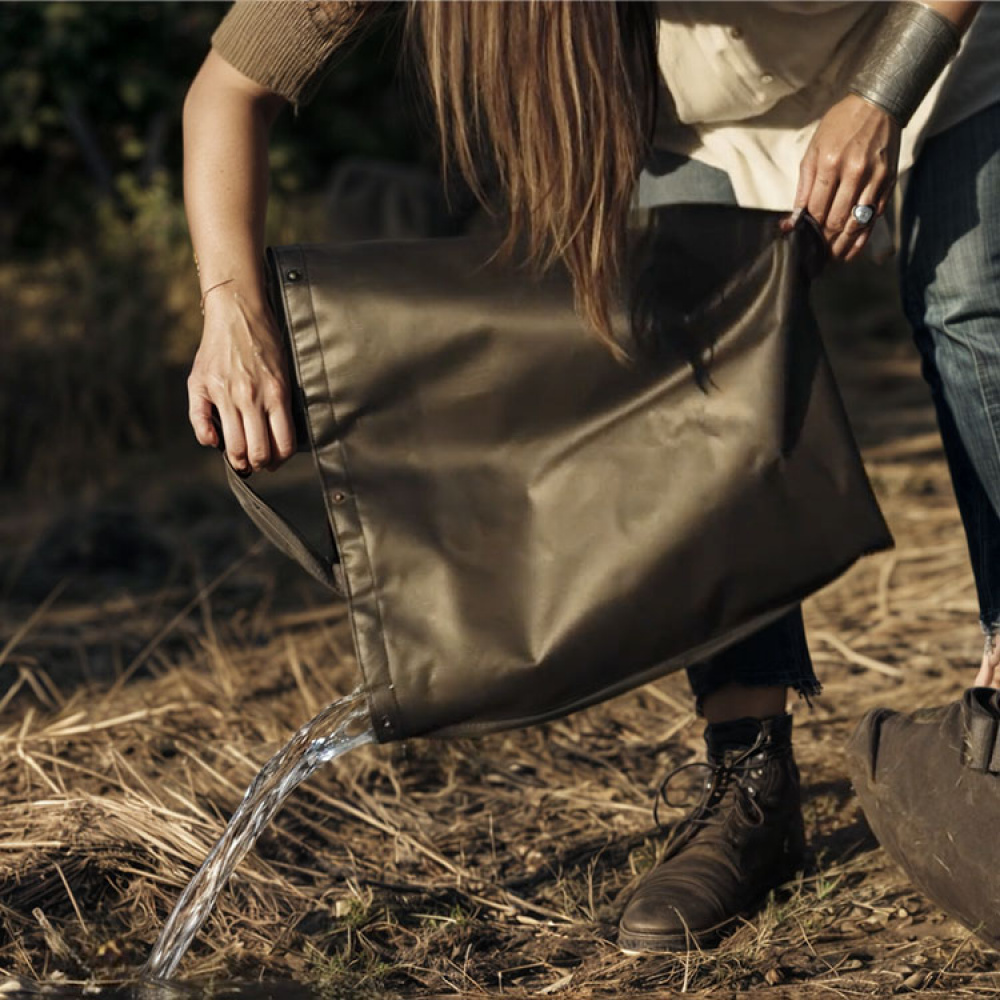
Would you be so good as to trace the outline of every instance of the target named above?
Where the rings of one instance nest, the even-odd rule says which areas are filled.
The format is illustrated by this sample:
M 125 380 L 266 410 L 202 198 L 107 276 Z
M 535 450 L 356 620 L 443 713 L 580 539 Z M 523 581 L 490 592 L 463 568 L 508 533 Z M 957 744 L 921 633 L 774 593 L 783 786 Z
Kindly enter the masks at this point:
M 856 94 L 820 119 L 799 167 L 795 208 L 805 209 L 823 227 L 838 260 L 861 252 L 872 224 L 885 211 L 896 183 L 900 131 L 886 112 Z M 853 217 L 856 205 L 875 209 L 867 225 Z

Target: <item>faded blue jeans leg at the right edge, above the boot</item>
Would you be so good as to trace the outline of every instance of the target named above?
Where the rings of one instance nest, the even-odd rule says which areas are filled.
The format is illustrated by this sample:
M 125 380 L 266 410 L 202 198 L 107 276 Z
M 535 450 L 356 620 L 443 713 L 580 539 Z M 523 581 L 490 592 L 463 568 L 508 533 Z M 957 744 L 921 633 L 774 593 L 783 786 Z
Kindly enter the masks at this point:
M 1000 622 L 1000 104 L 928 141 L 900 235 L 903 309 L 992 641 Z

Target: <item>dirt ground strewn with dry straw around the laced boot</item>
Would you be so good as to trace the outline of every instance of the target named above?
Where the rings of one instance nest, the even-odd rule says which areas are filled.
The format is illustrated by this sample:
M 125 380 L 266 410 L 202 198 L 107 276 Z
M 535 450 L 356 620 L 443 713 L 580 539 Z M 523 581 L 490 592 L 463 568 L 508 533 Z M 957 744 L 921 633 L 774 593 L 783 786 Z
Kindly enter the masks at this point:
M 845 776 L 865 709 L 955 698 L 981 648 L 890 284 L 869 268 L 819 289 L 897 547 L 807 607 L 825 688 L 795 706 L 799 879 L 715 951 L 616 949 L 663 841 L 655 789 L 698 752 L 672 676 L 544 727 L 328 768 L 241 866 L 183 976 L 294 979 L 331 998 L 996 995 L 995 954 L 911 888 Z M 308 470 L 288 478 L 295 503 Z M 216 457 L 187 444 L 99 494 L 4 497 L 0 585 L 0 977 L 127 978 L 260 764 L 354 686 L 344 608 L 257 540 Z

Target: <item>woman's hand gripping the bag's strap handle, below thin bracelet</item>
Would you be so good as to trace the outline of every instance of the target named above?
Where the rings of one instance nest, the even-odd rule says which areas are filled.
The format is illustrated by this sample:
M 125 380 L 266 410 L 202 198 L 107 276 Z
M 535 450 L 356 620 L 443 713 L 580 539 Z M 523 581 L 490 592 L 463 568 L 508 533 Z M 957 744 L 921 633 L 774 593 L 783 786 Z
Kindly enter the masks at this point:
M 237 472 L 275 469 L 295 452 L 288 367 L 281 335 L 263 301 L 227 285 L 205 299 L 201 346 L 188 377 L 195 437 L 218 447 Z

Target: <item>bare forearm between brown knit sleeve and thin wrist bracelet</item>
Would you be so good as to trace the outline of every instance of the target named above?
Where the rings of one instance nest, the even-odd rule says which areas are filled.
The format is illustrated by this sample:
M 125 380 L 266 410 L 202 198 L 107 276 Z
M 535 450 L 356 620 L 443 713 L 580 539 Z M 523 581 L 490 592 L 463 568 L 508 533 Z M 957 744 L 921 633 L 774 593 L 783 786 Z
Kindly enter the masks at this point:
M 184 203 L 204 293 L 232 279 L 251 306 L 264 301 L 267 147 L 285 102 L 215 53 L 184 103 Z

